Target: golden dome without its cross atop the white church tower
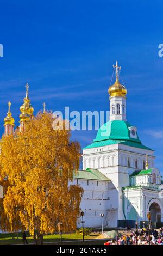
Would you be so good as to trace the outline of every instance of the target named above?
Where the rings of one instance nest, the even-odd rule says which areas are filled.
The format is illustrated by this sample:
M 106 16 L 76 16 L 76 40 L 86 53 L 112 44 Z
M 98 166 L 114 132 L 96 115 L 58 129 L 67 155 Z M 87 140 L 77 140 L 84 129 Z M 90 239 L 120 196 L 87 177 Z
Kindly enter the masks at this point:
M 120 84 L 118 77 L 117 77 L 115 83 L 109 87 L 108 92 L 109 92 L 110 96 L 125 97 L 127 94 L 127 89 L 122 84 Z

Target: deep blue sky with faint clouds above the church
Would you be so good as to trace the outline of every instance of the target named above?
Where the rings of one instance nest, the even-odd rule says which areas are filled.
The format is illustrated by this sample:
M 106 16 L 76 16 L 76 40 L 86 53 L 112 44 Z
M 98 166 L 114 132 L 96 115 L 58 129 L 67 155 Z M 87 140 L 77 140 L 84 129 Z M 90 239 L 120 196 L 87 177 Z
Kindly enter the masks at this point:
M 161 171 L 163 145 L 162 1 L 1 1 L 0 131 L 7 102 L 18 125 L 29 83 L 36 114 L 109 110 L 112 64 L 122 66 L 128 89 L 127 119 L 143 144 L 155 150 Z M 73 132 L 82 147 L 96 131 Z

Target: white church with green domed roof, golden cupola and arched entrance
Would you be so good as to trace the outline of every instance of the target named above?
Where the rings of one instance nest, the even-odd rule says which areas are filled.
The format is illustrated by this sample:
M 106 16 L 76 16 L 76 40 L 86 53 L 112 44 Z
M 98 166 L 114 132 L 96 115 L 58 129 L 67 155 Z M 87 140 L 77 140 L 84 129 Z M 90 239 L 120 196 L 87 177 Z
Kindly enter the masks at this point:
M 86 227 L 117 227 L 117 220 L 163 222 L 161 174 L 155 167 L 154 150 L 139 139 L 137 127 L 126 117 L 127 89 L 116 81 L 109 87 L 110 120 L 83 149 L 83 170 L 74 183 L 84 188 L 81 209 Z M 80 224 L 79 224 L 80 226 Z

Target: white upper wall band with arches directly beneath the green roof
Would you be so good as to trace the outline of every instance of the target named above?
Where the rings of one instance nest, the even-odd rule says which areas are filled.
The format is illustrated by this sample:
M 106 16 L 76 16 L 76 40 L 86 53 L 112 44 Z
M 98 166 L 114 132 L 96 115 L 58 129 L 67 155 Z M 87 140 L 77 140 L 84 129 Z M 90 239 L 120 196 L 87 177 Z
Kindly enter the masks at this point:
M 113 144 L 105 147 L 83 150 L 83 169 L 86 168 L 106 168 L 111 166 L 130 167 L 134 169 L 143 169 L 143 162 L 146 163 L 146 154 L 148 154 L 148 166 L 154 167 L 154 153 L 151 150 L 128 147 L 122 144 Z M 135 162 L 137 160 L 137 168 Z M 134 170 L 133 170 L 134 172 Z

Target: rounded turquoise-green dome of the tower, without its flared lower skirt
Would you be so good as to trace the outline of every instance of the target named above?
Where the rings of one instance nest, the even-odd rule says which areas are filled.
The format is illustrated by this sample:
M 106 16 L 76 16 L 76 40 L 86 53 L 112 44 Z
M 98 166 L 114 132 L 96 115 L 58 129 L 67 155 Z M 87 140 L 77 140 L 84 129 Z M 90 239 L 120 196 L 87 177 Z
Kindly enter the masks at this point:
M 108 121 L 107 123 L 103 124 L 97 132 L 96 139 L 93 142 L 97 141 L 105 141 L 106 139 L 118 139 L 118 140 L 125 140 L 125 141 L 135 141 L 141 142 L 137 135 L 137 138 L 130 137 L 130 130 L 129 127 L 132 127 L 130 123 L 127 121 L 122 120 L 113 120 Z

